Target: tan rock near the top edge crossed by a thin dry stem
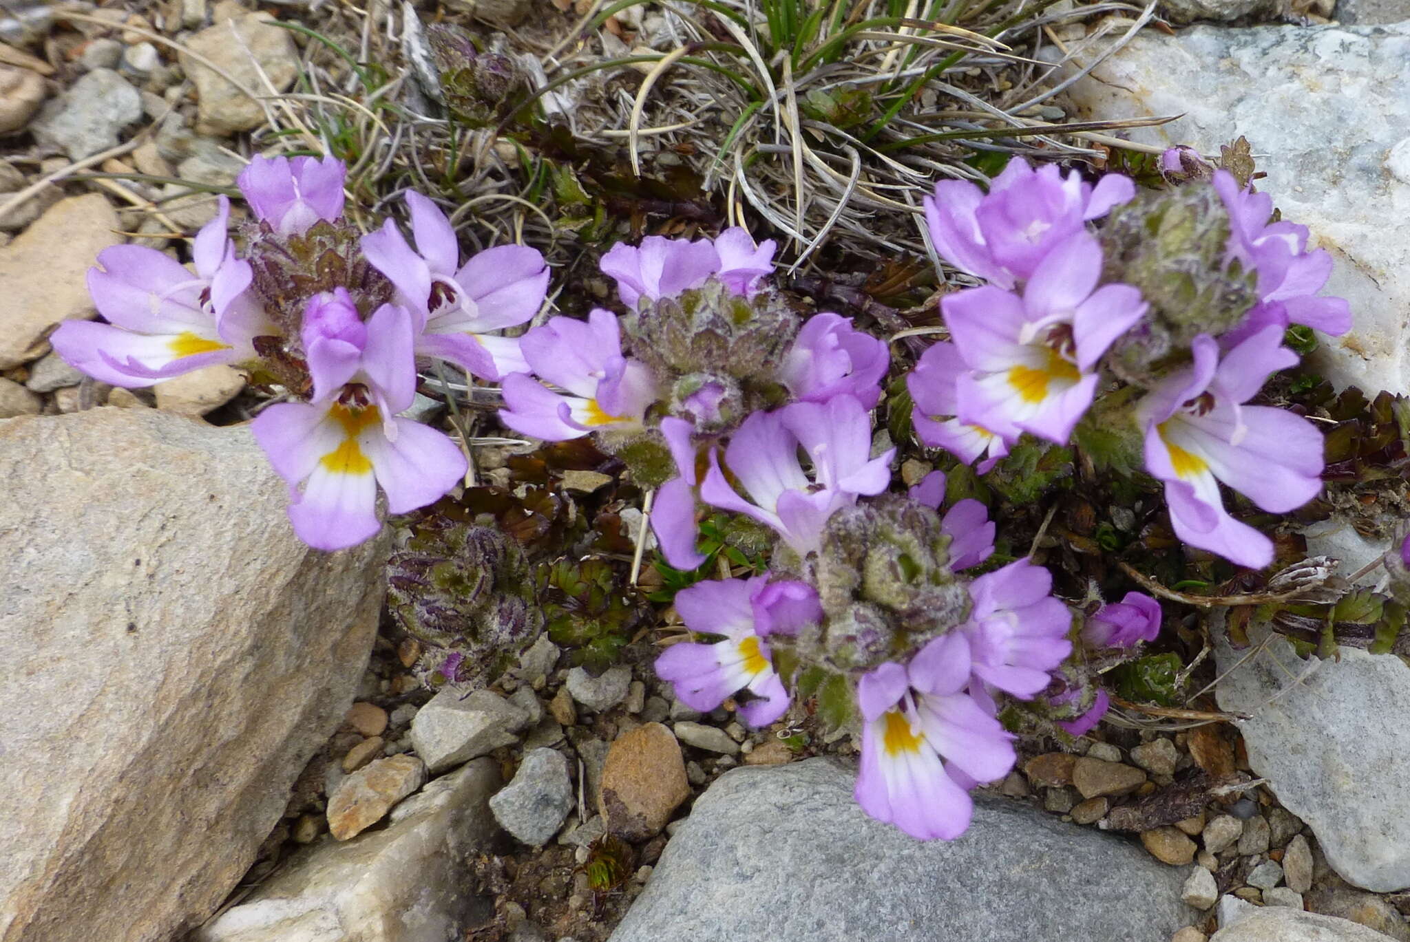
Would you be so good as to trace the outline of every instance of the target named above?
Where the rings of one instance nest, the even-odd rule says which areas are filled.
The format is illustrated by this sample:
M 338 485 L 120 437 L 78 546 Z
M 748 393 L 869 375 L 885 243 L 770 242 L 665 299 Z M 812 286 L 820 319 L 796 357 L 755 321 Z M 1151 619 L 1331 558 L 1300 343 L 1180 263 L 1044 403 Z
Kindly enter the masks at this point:
M 221 7 L 216 11 L 214 25 L 186 41 L 188 49 L 206 56 L 255 94 L 268 93 L 259 69 L 264 69 L 278 92 L 293 85 L 299 75 L 299 52 L 288 30 L 268 25 L 266 20 L 272 18 L 268 14 L 245 13 L 231 17 L 228 4 Z M 265 111 L 259 102 L 190 55 L 180 56 L 180 66 L 196 83 L 197 131 L 223 135 L 248 131 L 264 123 Z

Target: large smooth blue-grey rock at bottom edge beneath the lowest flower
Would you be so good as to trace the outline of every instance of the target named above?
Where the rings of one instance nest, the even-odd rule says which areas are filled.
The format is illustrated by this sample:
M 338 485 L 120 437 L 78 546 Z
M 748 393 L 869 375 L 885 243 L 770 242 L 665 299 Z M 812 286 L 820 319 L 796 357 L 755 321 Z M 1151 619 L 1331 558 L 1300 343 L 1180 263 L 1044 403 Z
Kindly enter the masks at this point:
M 828 759 L 722 776 L 611 942 L 1167 942 L 1193 921 L 1180 871 L 1131 842 L 990 795 L 963 838 L 918 842 L 854 780 Z

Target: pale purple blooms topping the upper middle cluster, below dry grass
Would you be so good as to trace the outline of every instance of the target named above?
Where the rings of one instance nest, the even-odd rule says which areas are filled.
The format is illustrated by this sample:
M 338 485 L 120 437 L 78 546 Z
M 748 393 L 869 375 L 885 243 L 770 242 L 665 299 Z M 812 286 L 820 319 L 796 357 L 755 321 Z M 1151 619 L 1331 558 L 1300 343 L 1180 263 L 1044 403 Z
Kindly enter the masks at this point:
M 640 298 L 675 298 L 711 275 L 736 295 L 753 295 L 760 279 L 774 271 L 774 248 L 771 238 L 754 245 L 749 231 L 737 226 L 715 241 L 647 236 L 640 245 L 613 245 L 602 255 L 601 268 L 616 279 L 618 296 L 627 307 L 636 307 Z

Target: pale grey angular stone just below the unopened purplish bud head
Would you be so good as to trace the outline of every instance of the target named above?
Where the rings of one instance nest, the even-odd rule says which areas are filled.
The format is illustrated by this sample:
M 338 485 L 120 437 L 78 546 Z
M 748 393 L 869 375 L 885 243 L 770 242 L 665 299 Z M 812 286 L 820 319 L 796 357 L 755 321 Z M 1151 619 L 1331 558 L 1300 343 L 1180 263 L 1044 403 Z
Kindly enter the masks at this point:
M 412 719 L 412 743 L 431 774 L 519 740 L 525 711 L 488 690 L 470 697 L 443 690 Z

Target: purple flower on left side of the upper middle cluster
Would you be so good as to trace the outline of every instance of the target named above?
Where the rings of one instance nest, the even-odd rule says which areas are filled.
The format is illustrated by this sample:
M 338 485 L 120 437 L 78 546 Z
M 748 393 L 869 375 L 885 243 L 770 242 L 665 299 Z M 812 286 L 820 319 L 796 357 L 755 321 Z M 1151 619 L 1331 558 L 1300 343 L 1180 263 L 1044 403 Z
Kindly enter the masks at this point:
M 554 317 L 520 338 L 534 375 L 567 389 L 550 392 L 530 377 L 503 378 L 505 405 L 499 419 L 527 436 L 548 441 L 580 439 L 589 432 L 640 429 L 656 402 L 656 382 L 644 364 L 622 355 L 616 314 L 601 307 L 587 323 Z

